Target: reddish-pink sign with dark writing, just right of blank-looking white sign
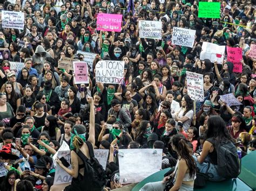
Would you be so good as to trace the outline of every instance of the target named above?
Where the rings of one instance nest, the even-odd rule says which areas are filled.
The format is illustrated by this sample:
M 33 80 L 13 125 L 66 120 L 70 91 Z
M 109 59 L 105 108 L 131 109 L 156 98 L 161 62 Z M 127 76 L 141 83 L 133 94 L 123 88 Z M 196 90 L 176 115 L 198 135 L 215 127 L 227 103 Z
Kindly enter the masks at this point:
M 227 46 L 227 60 L 234 64 L 233 72 L 242 73 L 242 49 Z

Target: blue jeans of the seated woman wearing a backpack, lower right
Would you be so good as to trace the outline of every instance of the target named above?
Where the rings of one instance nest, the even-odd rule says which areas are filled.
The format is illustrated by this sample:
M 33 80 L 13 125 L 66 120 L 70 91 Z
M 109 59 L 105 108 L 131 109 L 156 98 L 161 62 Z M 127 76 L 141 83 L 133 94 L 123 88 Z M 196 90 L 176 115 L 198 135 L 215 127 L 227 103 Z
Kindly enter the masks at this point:
M 206 163 L 203 162 L 201 164 L 199 164 L 197 157 L 192 155 L 194 160 L 196 161 L 197 167 L 199 168 L 199 172 L 200 173 L 204 173 L 207 174 L 209 176 L 209 180 L 210 181 L 214 181 L 214 182 L 219 182 L 219 181 L 223 181 L 225 180 L 225 178 L 219 176 L 218 172 L 217 172 L 217 165 L 213 165 L 212 163 Z

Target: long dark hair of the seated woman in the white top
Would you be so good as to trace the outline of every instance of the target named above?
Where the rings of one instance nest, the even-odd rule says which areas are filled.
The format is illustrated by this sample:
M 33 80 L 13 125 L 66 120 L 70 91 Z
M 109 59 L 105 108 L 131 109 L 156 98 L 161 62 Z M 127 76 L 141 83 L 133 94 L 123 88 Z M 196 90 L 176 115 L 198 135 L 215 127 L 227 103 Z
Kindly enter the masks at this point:
M 191 149 L 188 146 L 188 140 L 180 137 L 180 135 L 173 135 L 171 139 L 172 145 L 177 149 L 179 159 L 184 159 L 186 161 L 187 167 L 190 170 L 190 178 L 196 173 L 196 163 L 191 155 Z

